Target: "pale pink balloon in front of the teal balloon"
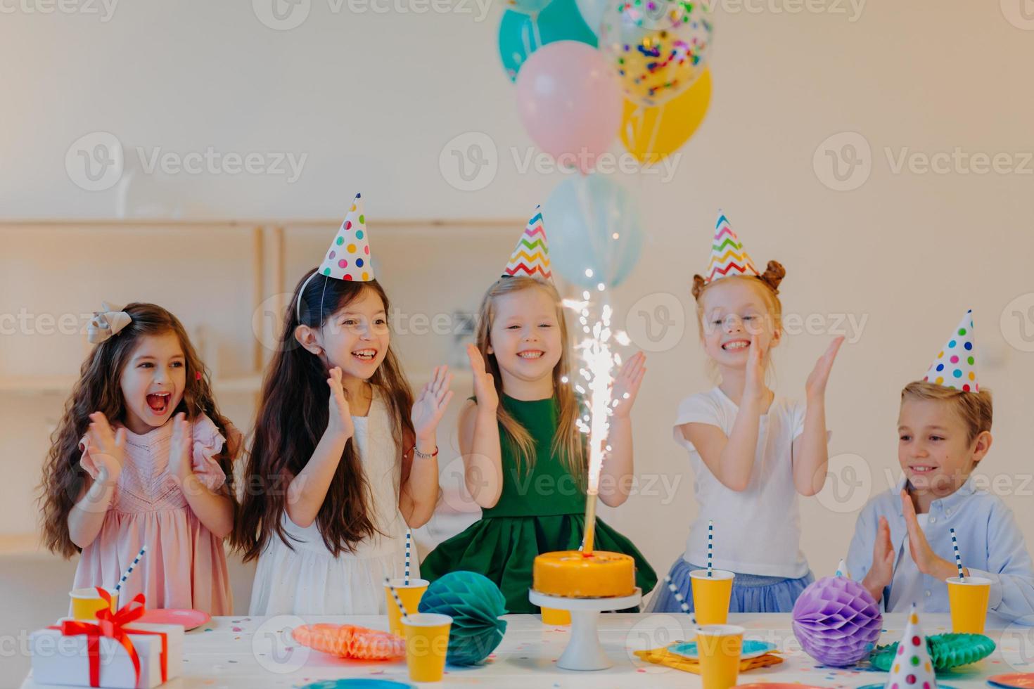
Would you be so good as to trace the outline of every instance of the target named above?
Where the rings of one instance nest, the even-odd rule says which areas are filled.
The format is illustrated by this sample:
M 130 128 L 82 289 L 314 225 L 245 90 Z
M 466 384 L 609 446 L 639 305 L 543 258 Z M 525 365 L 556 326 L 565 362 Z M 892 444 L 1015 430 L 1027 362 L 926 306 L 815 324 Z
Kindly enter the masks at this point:
M 543 45 L 517 73 L 517 111 L 531 140 L 584 175 L 617 135 L 621 107 L 610 65 L 577 40 Z

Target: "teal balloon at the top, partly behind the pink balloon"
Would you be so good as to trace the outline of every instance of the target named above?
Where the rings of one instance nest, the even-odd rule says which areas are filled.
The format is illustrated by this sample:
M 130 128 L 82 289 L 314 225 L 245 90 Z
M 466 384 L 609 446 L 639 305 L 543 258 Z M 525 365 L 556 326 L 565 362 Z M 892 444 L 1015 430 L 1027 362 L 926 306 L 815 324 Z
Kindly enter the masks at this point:
M 553 0 L 538 17 L 512 9 L 504 12 L 499 24 L 499 57 L 510 81 L 516 81 L 517 72 L 531 53 L 557 40 L 577 40 L 597 46 L 596 33 L 585 24 L 575 0 Z

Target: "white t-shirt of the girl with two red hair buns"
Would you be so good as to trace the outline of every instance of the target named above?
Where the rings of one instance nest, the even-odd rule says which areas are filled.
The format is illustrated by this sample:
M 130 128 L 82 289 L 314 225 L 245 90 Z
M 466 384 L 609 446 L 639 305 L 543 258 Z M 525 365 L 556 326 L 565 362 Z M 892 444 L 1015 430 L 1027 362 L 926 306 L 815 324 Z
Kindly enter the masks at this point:
M 793 484 L 791 445 L 804 430 L 804 405 L 776 398 L 758 422 L 758 449 L 746 491 L 726 488 L 701 459 L 683 424 L 709 424 L 732 433 L 739 408 L 720 388 L 678 405 L 675 442 L 690 452 L 700 512 L 686 541 L 686 561 L 707 561 L 707 521 L 714 522 L 713 563 L 744 574 L 799 578 L 808 573 L 800 552 L 800 513 Z

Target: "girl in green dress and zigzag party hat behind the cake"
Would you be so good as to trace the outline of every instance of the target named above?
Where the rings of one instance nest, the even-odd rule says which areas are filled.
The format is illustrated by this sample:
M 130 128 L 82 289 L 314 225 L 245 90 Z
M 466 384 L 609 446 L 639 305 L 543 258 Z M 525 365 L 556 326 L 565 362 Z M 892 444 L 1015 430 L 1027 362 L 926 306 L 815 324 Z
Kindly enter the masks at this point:
M 578 550 L 585 530 L 587 452 L 576 427 L 578 400 L 567 383 L 570 341 L 560 297 L 547 281 L 539 222 L 535 234 L 541 234 L 543 251 L 537 272 L 546 280 L 508 270 L 482 303 L 477 346 L 467 346 L 475 397 L 460 413 L 459 443 L 464 482 L 482 519 L 439 544 L 421 565 L 424 578 L 432 582 L 460 569 L 484 574 L 501 589 L 510 613 L 539 612 L 528 601 L 535 557 Z M 600 500 L 612 507 L 626 501 L 632 483 L 629 412 L 644 362 L 641 352 L 635 354 L 614 381 L 613 399 L 620 402 L 610 419 L 611 450 L 600 476 Z M 644 594 L 657 584 L 636 546 L 600 520 L 596 550 L 635 558 L 636 586 Z

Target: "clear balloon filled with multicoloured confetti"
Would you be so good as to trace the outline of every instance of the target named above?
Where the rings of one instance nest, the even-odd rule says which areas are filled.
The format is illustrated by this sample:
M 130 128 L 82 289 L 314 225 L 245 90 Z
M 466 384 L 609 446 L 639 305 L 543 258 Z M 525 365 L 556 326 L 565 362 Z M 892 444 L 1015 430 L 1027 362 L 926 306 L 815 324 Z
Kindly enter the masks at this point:
M 600 26 L 600 50 L 626 97 L 652 107 L 703 73 L 713 33 L 709 2 L 613 0 Z

